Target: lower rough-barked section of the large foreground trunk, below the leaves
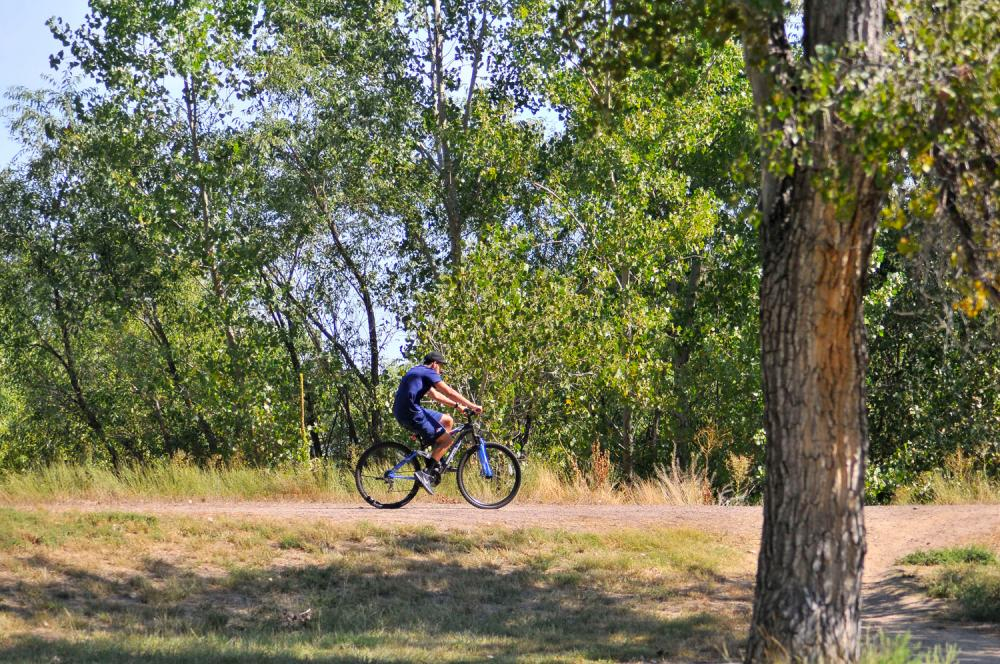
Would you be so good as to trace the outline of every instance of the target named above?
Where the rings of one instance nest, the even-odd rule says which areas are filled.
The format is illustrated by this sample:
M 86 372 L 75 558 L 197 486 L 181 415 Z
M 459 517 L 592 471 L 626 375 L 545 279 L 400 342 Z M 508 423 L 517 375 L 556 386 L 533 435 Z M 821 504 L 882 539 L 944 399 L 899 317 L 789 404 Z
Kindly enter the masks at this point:
M 854 661 L 865 552 L 862 293 L 879 197 L 847 218 L 800 172 L 762 224 L 767 483 L 747 661 Z

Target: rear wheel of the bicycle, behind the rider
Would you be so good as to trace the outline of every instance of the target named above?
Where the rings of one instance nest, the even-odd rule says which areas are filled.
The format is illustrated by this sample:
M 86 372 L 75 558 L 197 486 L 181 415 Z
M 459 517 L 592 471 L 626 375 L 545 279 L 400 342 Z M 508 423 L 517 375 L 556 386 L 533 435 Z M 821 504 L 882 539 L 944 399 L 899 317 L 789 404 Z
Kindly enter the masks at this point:
M 365 502 L 379 509 L 396 509 L 413 500 L 420 490 L 413 476 L 420 462 L 419 457 L 406 461 L 412 454 L 413 450 L 399 443 L 378 443 L 365 450 L 354 469 L 354 483 Z

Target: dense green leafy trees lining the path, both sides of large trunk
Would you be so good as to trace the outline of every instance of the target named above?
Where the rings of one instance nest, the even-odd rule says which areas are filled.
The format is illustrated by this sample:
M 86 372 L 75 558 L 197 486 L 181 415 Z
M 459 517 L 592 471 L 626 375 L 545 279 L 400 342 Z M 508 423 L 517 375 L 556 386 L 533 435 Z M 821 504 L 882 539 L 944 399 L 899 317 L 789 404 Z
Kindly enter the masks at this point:
M 402 435 L 400 355 L 438 348 L 497 437 L 527 418 L 569 478 L 596 449 L 612 483 L 676 462 L 753 491 L 748 17 L 427 9 L 101 0 L 52 21 L 53 65 L 100 87 L 13 93 L 0 468 L 349 463 Z M 987 495 L 1000 20 L 971 0 L 893 11 L 884 66 L 818 50 L 771 100 L 765 146 L 776 169 L 806 163 L 814 120 L 836 117 L 891 185 L 866 298 L 869 500 Z M 942 470 L 956 451 L 974 472 Z

